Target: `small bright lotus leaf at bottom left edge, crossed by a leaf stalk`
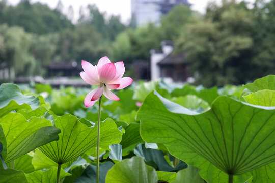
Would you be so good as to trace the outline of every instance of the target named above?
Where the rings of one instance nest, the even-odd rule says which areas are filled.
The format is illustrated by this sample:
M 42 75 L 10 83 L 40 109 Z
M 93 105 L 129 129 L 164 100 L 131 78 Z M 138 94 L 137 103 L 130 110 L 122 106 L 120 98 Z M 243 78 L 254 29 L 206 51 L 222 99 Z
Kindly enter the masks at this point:
M 30 174 L 25 174 L 29 183 L 52 183 L 57 181 L 57 167 L 51 167 L 47 171 L 35 171 Z M 60 179 L 71 174 L 66 173 L 63 169 L 60 171 Z

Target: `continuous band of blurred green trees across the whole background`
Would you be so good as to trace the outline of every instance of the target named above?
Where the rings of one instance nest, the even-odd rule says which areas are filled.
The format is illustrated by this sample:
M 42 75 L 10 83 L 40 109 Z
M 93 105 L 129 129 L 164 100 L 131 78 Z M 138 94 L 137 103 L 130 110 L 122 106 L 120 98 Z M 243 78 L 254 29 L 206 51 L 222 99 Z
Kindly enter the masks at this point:
M 17 76 L 43 75 L 52 62 L 95 64 L 107 55 L 129 69 L 136 60 L 149 63 L 162 40 L 173 40 L 172 54 L 185 52 L 197 84 L 240 84 L 275 72 L 275 0 L 212 2 L 205 14 L 176 6 L 159 25 L 142 27 L 95 5 L 81 7 L 78 20 L 75 13 L 61 1 L 53 10 L 29 0 L 0 1 L 0 67 L 13 67 Z

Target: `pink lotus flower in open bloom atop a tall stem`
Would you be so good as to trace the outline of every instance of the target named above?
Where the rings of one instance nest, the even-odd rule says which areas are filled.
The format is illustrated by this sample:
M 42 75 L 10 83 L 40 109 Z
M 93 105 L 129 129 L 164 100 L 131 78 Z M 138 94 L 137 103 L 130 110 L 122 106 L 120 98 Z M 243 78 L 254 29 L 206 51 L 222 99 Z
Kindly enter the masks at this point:
M 84 71 L 80 72 L 81 78 L 88 84 L 98 85 L 85 97 L 86 107 L 94 105 L 102 94 L 110 100 L 119 100 L 110 90 L 123 89 L 133 82 L 130 77 L 122 77 L 125 72 L 124 63 L 121 61 L 114 64 L 107 56 L 102 57 L 96 66 L 82 60 L 82 68 Z

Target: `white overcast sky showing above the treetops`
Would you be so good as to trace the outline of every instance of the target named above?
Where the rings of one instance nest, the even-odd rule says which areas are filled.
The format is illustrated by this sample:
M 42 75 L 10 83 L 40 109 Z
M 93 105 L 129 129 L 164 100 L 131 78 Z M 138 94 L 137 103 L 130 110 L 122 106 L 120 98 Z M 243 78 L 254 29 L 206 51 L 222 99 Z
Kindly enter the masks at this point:
M 221 2 L 222 0 L 216 0 L 216 2 Z M 254 2 L 254 0 L 246 0 L 249 2 Z M 20 0 L 8 0 L 10 4 L 16 5 Z M 34 2 L 47 3 L 49 7 L 55 8 L 57 6 L 57 0 L 31 0 Z M 192 4 L 191 9 L 199 11 L 201 13 L 205 12 L 205 8 L 208 0 L 189 0 Z M 74 9 L 74 18 L 77 18 L 79 7 L 86 7 L 88 4 L 96 4 L 101 12 L 106 12 L 107 15 L 121 15 L 123 22 L 127 22 L 131 17 L 131 0 L 63 0 L 65 13 L 68 7 L 72 5 Z

